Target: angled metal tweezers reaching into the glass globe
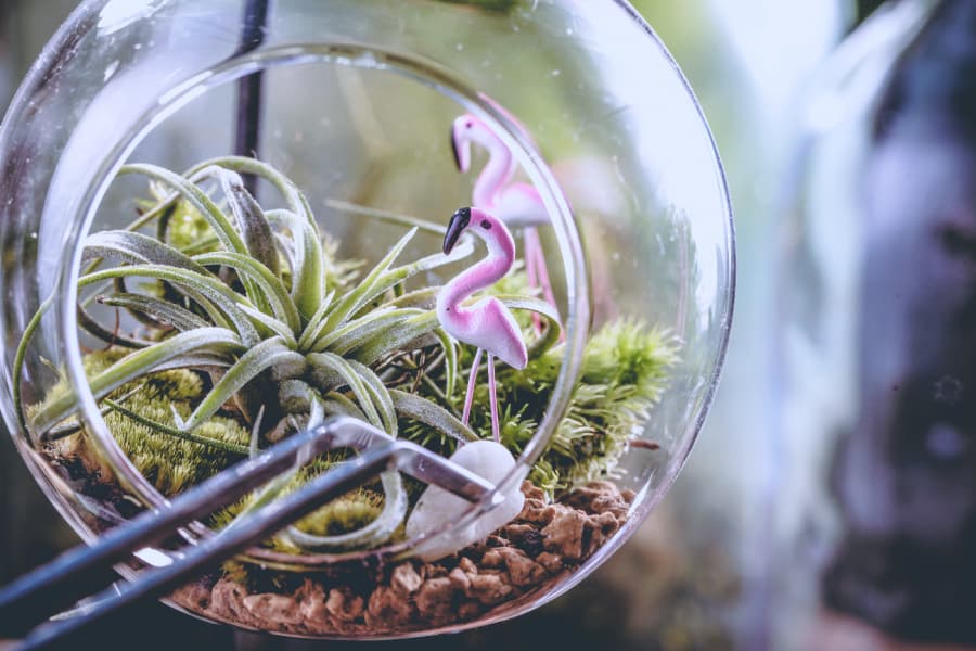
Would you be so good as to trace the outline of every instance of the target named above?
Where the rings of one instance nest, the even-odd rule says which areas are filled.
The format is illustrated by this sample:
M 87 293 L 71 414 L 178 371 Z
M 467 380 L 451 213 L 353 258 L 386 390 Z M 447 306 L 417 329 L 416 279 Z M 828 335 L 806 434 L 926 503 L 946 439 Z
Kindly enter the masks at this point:
M 114 579 L 111 569 L 132 553 L 171 538 L 296 464 L 323 452 L 351 448 L 360 454 L 283 495 L 223 531 L 201 537 L 177 552 L 171 562 L 138 573 L 134 580 L 116 583 L 94 595 L 70 616 L 46 620 Z M 159 598 L 200 575 L 215 563 L 266 540 L 326 501 L 342 496 L 386 470 L 397 470 L 467 501 L 498 498 L 496 486 L 468 470 L 416 444 L 393 438 L 365 422 L 332 418 L 295 434 L 258 456 L 233 465 L 169 502 L 146 511 L 105 533 L 92 547 L 68 550 L 0 589 L 0 638 L 22 638 L 18 649 L 66 644 L 90 625 L 145 599 Z M 196 523 L 197 526 L 202 526 Z

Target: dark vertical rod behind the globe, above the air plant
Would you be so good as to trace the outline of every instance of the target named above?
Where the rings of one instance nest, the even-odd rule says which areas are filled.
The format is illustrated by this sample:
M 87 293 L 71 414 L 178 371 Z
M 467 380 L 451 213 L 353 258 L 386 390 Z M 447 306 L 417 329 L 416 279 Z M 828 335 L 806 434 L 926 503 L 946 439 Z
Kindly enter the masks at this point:
M 244 24 L 237 55 L 256 50 L 265 42 L 270 0 L 247 0 L 244 7 Z M 258 156 L 261 127 L 261 92 L 264 72 L 258 71 L 237 81 L 237 115 L 235 120 L 234 153 L 239 156 Z M 244 186 L 256 195 L 257 178 L 244 175 Z

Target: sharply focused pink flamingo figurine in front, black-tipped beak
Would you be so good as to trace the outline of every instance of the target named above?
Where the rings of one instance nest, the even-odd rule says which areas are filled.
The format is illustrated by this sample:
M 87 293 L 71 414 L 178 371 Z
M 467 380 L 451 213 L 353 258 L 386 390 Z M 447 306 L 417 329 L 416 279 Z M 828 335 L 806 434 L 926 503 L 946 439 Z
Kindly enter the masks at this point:
M 444 285 L 437 295 L 437 319 L 444 329 L 458 341 L 477 346 L 461 421 L 467 424 L 474 387 L 481 361 L 481 352 L 488 353 L 488 394 L 491 401 L 491 434 L 499 443 L 498 392 L 495 382 L 495 358 L 516 369 L 528 363 L 528 352 L 522 339 L 522 330 L 515 317 L 501 301 L 487 296 L 471 306 L 461 302 L 478 290 L 490 286 L 504 277 L 515 263 L 515 241 L 505 225 L 479 208 L 461 208 L 451 216 L 444 237 L 444 253 L 449 254 L 463 232 L 472 232 L 485 241 L 488 255 L 468 267 Z

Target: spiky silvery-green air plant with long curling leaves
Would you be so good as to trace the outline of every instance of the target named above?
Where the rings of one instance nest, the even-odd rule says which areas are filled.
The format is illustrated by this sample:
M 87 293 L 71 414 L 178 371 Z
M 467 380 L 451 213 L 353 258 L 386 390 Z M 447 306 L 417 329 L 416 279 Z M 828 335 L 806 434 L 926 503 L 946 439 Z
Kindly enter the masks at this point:
M 437 288 L 422 281 L 410 286 L 424 272 L 468 255 L 471 243 L 451 255 L 397 264 L 416 232 L 412 228 L 354 280 L 350 265 L 323 244 L 301 192 L 265 163 L 221 157 L 182 175 L 145 164 L 119 171 L 134 174 L 152 181 L 156 200 L 128 228 L 88 237 L 78 280 L 80 327 L 112 350 L 127 350 L 103 355 L 104 363 L 91 367 L 88 378 L 93 397 L 114 420 L 117 441 L 168 437 L 198 446 L 196 462 L 210 472 L 219 470 L 210 468 L 214 458 L 253 452 L 329 414 L 359 418 L 393 436 L 404 422 L 448 439 L 478 437 L 452 409 L 458 344 L 434 312 Z M 268 181 L 283 207 L 262 208 L 242 174 Z M 143 284 L 132 289 L 137 282 Z M 100 323 L 93 302 L 124 310 L 141 323 L 143 335 L 119 332 L 117 321 Z M 553 318 L 547 304 L 530 296 L 505 302 Z M 80 429 L 77 401 L 65 386 L 27 409 L 21 405 L 27 345 L 46 307 L 28 323 L 14 369 L 20 416 L 40 442 Z M 532 355 L 550 347 L 556 333 L 551 324 Z M 167 394 L 158 379 L 175 371 L 202 382 Z M 248 445 L 227 432 L 201 434 L 206 423 L 228 417 L 249 430 Z M 180 473 L 168 471 L 175 474 Z M 300 475 L 296 469 L 273 482 L 240 513 L 274 499 Z M 382 508 L 368 523 L 342 533 L 320 527 L 324 534 L 292 527 L 287 536 L 316 548 L 368 548 L 389 539 L 404 519 L 408 497 L 399 473 L 388 471 L 380 480 Z

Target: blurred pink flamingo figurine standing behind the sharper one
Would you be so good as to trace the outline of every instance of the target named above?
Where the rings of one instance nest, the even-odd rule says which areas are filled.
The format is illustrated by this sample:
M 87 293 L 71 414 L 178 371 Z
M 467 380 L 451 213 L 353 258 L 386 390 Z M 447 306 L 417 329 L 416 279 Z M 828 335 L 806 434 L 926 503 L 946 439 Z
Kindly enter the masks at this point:
M 542 244 L 536 231 L 537 226 L 550 222 L 539 192 L 528 183 L 511 182 L 516 168 L 512 152 L 488 125 L 470 113 L 458 117 L 451 127 L 451 146 L 458 169 L 466 173 L 471 168 L 472 142 L 488 151 L 488 164 L 475 180 L 472 192 L 474 205 L 490 210 L 510 227 L 525 228 L 525 271 L 529 284 L 541 286 L 545 299 L 555 307 Z M 538 333 L 541 330 L 538 315 L 532 315 L 532 322 Z

